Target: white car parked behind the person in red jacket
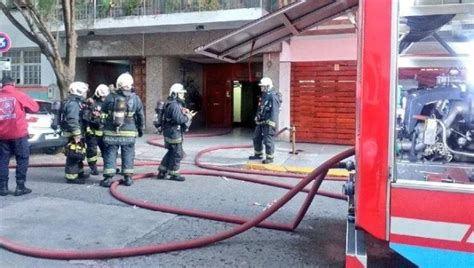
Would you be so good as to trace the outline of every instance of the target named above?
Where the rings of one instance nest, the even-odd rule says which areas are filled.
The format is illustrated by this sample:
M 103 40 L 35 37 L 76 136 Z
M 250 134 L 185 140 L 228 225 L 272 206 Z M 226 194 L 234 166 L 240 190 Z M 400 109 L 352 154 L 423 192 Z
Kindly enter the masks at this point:
M 34 114 L 26 114 L 30 148 L 40 149 L 46 153 L 56 153 L 66 144 L 66 138 L 62 137 L 59 131 L 54 131 L 51 128 L 52 103 L 43 100 L 36 100 L 36 102 L 40 106 L 39 111 Z

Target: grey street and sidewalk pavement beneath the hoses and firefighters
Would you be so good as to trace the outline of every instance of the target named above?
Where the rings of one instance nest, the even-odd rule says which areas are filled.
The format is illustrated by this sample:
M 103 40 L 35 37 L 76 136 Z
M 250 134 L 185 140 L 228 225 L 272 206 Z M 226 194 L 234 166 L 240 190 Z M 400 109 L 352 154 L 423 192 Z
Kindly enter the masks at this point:
M 252 131 L 234 129 L 222 136 L 185 138 L 182 169 L 195 170 L 194 156 L 204 148 L 250 145 Z M 137 140 L 136 160 L 161 160 L 165 149 L 151 146 L 146 135 Z M 277 141 L 276 167 L 312 169 L 348 147 L 291 144 Z M 205 154 L 204 163 L 246 167 L 252 148 L 218 150 Z M 31 163 L 63 162 L 64 156 L 33 154 Z M 13 162 L 13 161 L 12 161 Z M 250 161 L 251 162 L 251 161 Z M 156 171 L 156 166 L 136 167 L 136 173 Z M 27 186 L 33 193 L 0 197 L 0 237 L 34 247 L 52 249 L 123 248 L 197 238 L 228 230 L 233 224 L 214 222 L 129 206 L 98 185 L 100 176 L 85 185 L 66 184 L 63 168 L 30 168 Z M 119 176 L 117 176 L 117 179 Z M 296 184 L 293 178 L 265 177 Z M 14 170 L 10 170 L 14 189 Z M 326 181 L 322 190 L 341 193 L 342 182 Z M 129 197 L 180 208 L 212 211 L 252 218 L 287 190 L 225 177 L 188 175 L 185 182 L 144 179 L 119 191 Z M 298 212 L 305 194 L 298 194 L 270 217 L 288 223 Z M 228 240 L 192 250 L 108 260 L 48 260 L 0 249 L 0 267 L 343 267 L 345 250 L 344 201 L 317 196 L 294 232 L 253 228 Z M 368 239 L 371 267 L 407 267 L 387 245 Z

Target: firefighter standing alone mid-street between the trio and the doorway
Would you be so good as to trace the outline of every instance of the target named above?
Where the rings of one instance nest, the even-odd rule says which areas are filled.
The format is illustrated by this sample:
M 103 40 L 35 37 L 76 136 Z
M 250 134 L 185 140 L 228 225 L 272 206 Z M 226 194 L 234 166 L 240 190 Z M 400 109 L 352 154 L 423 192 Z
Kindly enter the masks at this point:
M 189 128 L 196 114 L 184 107 L 185 93 L 182 84 L 173 84 L 161 115 L 165 148 L 168 151 L 158 167 L 158 179 L 165 179 L 169 175 L 170 180 L 185 180 L 179 174 L 179 164 L 183 159 L 183 132 Z

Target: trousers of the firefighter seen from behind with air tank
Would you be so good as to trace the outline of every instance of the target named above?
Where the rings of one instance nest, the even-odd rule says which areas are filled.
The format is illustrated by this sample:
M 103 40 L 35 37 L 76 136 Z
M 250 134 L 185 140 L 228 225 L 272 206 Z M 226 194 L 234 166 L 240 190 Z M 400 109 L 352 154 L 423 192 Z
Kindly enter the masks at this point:
M 105 143 L 104 177 L 113 177 L 116 173 L 117 154 L 120 149 L 122 158 L 122 174 L 124 176 L 133 175 L 133 160 L 135 159 L 135 143 L 108 144 Z

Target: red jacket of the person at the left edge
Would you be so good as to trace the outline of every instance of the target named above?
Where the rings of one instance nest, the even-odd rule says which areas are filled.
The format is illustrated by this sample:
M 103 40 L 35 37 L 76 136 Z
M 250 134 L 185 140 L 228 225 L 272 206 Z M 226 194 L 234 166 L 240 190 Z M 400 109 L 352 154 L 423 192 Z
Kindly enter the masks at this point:
M 0 140 L 13 140 L 28 135 L 26 112 L 36 113 L 38 103 L 12 85 L 0 89 Z

